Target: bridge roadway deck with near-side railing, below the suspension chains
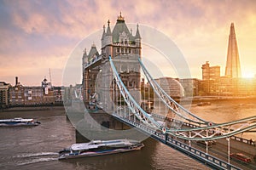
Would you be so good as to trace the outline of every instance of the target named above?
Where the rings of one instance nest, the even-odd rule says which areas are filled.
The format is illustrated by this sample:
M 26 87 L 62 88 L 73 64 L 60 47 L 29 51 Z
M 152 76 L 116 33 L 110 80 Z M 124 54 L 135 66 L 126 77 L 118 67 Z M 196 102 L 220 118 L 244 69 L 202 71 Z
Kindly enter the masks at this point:
M 191 142 L 191 145 L 189 146 L 189 142 L 184 141 L 183 139 L 177 139 L 175 137 L 172 137 L 170 134 L 163 134 L 160 131 L 155 131 L 154 129 L 150 127 L 146 127 L 139 122 L 133 122 L 131 119 L 120 117 L 117 114 L 113 114 L 113 116 L 118 119 L 120 122 L 124 122 L 125 124 L 131 126 L 131 127 L 137 127 L 137 130 L 146 133 L 151 136 L 153 139 L 157 139 L 163 144 L 166 144 L 170 147 L 172 147 L 175 150 L 179 150 L 182 153 L 194 158 L 197 161 L 201 161 L 204 164 L 206 164 L 208 167 L 212 167 L 214 169 L 230 169 L 230 170 L 236 170 L 236 169 L 256 169 L 256 163 L 253 161 L 253 156 L 251 156 L 252 161 L 251 163 L 244 163 L 241 161 L 234 161 L 230 159 L 230 164 L 228 163 L 228 148 L 227 143 L 224 140 L 225 139 L 218 139 L 216 144 L 213 144 L 212 147 L 208 148 L 208 154 L 206 146 L 202 144 L 198 144 L 196 142 Z M 231 152 L 242 152 L 241 150 L 237 150 L 236 148 L 232 147 L 233 142 L 230 142 L 230 153 Z M 255 150 L 255 147 L 253 145 L 243 144 L 240 142 L 243 147 L 252 147 L 252 150 Z M 245 153 L 248 155 L 247 153 Z

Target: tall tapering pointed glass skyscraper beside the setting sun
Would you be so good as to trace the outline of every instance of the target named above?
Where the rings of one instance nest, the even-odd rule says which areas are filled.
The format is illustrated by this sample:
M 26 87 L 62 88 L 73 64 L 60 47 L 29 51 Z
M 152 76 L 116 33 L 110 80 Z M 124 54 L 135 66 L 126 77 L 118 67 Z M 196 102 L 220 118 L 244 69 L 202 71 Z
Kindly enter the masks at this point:
M 238 54 L 234 23 L 231 23 L 231 26 L 230 26 L 230 37 L 229 37 L 225 77 L 231 77 L 231 78 L 241 77 L 240 59 Z

